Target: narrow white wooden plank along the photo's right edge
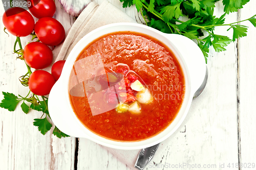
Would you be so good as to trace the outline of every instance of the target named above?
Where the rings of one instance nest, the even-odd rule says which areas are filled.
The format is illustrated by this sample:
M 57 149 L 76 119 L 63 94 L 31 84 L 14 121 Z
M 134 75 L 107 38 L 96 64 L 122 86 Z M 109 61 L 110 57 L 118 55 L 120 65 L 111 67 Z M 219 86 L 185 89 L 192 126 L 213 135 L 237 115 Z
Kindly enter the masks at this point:
M 255 15 L 256 2 L 250 1 L 243 9 L 241 9 L 241 20 L 250 18 Z M 241 23 L 248 26 L 246 37 L 239 40 L 239 131 L 240 131 L 240 169 L 247 169 L 250 164 L 256 164 L 256 128 L 255 120 L 255 95 L 254 90 L 256 80 L 254 74 L 256 72 L 255 63 L 255 44 L 256 35 L 255 28 L 249 21 Z M 247 167 L 247 168 L 246 168 Z M 250 165 L 252 168 L 252 165 Z

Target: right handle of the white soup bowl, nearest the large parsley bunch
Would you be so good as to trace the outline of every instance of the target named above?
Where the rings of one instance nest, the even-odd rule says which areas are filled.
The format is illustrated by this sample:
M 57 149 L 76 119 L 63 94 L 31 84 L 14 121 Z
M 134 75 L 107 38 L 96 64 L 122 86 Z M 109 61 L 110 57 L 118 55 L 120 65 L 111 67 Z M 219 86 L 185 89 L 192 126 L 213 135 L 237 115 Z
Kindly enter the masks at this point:
M 178 34 L 164 34 L 164 36 L 175 45 L 184 58 L 190 76 L 191 93 L 194 94 L 203 83 L 206 72 L 202 51 L 193 40 L 185 36 Z

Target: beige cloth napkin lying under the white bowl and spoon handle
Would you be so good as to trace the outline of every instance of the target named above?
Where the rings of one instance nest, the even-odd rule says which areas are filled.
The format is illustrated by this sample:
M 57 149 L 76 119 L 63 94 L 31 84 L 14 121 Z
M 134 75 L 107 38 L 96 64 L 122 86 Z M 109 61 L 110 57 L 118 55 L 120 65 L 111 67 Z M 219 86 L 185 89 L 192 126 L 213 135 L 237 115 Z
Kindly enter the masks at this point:
M 121 10 L 113 6 L 108 1 L 102 2 L 99 6 L 95 2 L 91 2 L 79 15 L 74 22 L 74 25 L 66 34 L 66 39 L 62 44 L 55 47 L 53 50 L 53 63 L 58 60 L 66 60 L 75 44 L 86 34 L 92 30 L 104 25 L 116 22 L 136 22 L 131 17 L 123 13 Z M 52 63 L 52 64 L 53 64 Z M 46 68 L 51 72 L 51 66 Z M 158 151 L 154 158 L 161 156 L 161 150 L 164 149 L 164 143 L 168 142 L 168 139 L 159 145 Z M 132 169 L 136 169 L 134 164 L 138 157 L 140 150 L 117 150 L 108 147 L 103 147 L 112 154 L 114 154 L 123 163 L 128 165 Z M 154 161 L 154 158 L 152 162 Z

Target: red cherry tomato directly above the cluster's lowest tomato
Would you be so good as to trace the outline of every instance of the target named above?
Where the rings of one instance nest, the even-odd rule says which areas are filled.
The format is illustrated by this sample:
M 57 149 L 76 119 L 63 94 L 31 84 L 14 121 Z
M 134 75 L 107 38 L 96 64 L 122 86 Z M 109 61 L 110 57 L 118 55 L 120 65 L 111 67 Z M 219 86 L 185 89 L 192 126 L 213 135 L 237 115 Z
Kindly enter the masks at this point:
M 52 63 L 52 50 L 41 42 L 30 42 L 24 48 L 24 59 L 26 63 L 35 69 L 48 67 Z

